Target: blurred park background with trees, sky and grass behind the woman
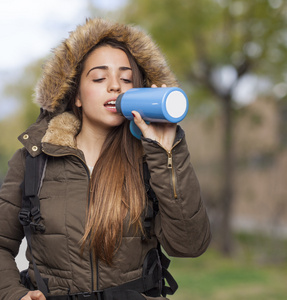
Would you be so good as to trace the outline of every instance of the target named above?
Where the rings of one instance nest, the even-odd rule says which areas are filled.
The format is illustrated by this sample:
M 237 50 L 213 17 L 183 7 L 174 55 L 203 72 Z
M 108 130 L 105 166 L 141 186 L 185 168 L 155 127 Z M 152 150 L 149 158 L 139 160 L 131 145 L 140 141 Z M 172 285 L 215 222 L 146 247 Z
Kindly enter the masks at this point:
M 286 299 L 287 1 L 1 1 L 0 184 L 39 113 L 42 63 L 89 17 L 149 32 L 189 96 L 181 125 L 213 240 L 199 258 L 172 258 L 170 299 Z

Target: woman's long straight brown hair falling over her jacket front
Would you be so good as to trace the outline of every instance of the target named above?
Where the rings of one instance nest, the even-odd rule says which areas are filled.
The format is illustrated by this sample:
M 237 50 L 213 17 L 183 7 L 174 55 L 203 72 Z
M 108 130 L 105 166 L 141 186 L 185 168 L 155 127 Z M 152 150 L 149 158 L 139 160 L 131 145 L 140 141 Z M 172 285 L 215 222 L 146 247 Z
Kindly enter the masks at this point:
M 133 87 L 144 86 L 143 70 L 127 47 L 112 39 L 101 41 L 86 54 L 79 65 L 75 86 L 80 84 L 79 78 L 89 54 L 106 45 L 127 54 L 132 68 Z M 81 119 L 81 111 L 75 105 L 72 107 Z M 107 264 L 112 264 L 121 244 L 125 222 L 134 229 L 134 234 L 143 233 L 141 216 L 145 207 L 145 190 L 142 155 L 141 142 L 131 135 L 129 121 L 125 120 L 108 134 L 93 169 L 82 251 L 88 245 L 94 257 Z

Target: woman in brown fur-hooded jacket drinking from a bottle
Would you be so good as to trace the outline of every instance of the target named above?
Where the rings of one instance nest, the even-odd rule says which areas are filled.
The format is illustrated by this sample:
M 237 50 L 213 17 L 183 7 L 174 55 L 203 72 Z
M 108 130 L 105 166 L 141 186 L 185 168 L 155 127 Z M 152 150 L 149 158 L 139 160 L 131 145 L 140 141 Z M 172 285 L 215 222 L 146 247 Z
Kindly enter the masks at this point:
M 183 130 L 147 125 L 134 111 L 138 140 L 115 110 L 128 89 L 165 85 L 177 82 L 155 44 L 134 27 L 88 20 L 55 49 L 37 85 L 41 114 L 20 135 L 24 147 L 9 162 L 0 192 L 0 299 L 46 299 L 33 257 L 47 299 L 166 299 L 161 273 L 143 288 L 134 284 L 153 266 L 161 270 L 158 243 L 177 257 L 206 250 L 209 221 Z M 31 290 L 14 261 L 24 236 L 18 214 L 28 153 L 47 157 L 39 192 L 45 232 L 32 234 L 33 256 L 27 251 Z M 158 201 L 149 226 L 145 164 Z

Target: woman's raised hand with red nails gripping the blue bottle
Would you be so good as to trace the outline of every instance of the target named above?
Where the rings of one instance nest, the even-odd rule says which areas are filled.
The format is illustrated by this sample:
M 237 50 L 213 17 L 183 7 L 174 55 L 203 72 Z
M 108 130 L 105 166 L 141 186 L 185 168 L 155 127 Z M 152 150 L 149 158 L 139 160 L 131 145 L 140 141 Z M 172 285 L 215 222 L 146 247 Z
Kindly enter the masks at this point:
M 152 88 L 157 86 L 153 84 Z M 165 84 L 162 87 L 166 87 Z M 149 138 L 157 141 L 165 148 L 170 151 L 176 134 L 176 124 L 173 123 L 151 123 L 149 125 L 142 119 L 141 115 L 137 111 L 132 111 L 134 116 L 134 122 L 141 130 L 145 138 Z

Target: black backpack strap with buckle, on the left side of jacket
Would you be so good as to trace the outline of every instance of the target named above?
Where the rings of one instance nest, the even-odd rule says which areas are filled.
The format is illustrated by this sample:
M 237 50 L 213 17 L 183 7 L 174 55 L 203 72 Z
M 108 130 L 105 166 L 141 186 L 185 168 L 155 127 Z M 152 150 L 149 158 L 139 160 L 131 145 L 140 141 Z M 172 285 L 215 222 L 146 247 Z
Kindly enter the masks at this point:
M 37 287 L 45 296 L 48 294 L 48 287 L 47 283 L 40 275 L 33 256 L 31 236 L 32 232 L 45 232 L 45 226 L 41 224 L 42 217 L 40 213 L 40 201 L 38 193 L 42 185 L 46 164 L 47 156 L 44 153 L 41 153 L 36 157 L 32 157 L 30 154 L 27 154 L 25 177 L 22 183 L 22 207 L 19 212 L 19 221 L 23 225 L 27 244 L 32 256 Z

